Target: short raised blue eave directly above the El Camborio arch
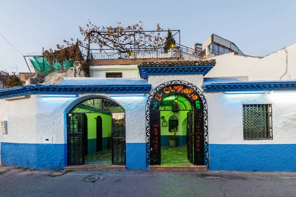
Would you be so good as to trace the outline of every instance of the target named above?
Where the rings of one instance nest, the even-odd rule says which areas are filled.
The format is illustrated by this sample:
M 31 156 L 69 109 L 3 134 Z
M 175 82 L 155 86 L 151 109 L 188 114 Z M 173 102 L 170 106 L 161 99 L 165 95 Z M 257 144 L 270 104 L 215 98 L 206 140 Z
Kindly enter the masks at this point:
M 215 65 L 192 65 L 192 66 L 139 66 L 143 79 L 150 75 L 206 75 Z

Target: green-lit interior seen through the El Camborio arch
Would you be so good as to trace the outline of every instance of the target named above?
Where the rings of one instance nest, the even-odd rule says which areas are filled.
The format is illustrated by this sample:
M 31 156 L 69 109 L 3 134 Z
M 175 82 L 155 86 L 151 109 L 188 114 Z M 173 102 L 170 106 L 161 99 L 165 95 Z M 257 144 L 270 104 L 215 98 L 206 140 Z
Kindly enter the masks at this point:
M 187 113 L 192 110 L 191 102 L 183 95 L 169 95 L 159 106 L 161 131 L 161 164 L 188 164 L 187 160 Z M 171 119 L 171 120 L 170 120 Z M 178 121 L 176 147 L 169 147 L 170 124 Z M 167 126 L 165 126 L 166 122 Z M 175 122 L 176 123 L 176 122 Z M 172 130 L 171 130 L 172 131 Z

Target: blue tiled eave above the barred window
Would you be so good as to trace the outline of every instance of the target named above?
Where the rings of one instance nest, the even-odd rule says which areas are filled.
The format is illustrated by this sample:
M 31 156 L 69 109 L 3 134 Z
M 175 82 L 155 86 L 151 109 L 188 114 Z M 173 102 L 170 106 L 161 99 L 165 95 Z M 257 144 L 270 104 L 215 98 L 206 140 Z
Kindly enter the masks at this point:
M 291 91 L 296 90 L 296 80 L 288 81 L 222 81 L 204 83 L 204 92 L 236 91 Z

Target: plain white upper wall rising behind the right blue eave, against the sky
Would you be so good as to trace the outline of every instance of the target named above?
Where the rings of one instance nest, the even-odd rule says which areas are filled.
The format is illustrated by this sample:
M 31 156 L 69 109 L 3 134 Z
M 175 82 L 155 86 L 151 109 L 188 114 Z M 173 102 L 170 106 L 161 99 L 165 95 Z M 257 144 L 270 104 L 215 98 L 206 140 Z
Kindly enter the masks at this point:
M 263 58 L 234 55 L 216 56 L 216 65 L 205 77 L 248 76 L 249 81 L 280 80 L 286 72 L 286 51 L 288 52 L 287 73 L 281 80 L 296 79 L 296 44 L 290 45 Z

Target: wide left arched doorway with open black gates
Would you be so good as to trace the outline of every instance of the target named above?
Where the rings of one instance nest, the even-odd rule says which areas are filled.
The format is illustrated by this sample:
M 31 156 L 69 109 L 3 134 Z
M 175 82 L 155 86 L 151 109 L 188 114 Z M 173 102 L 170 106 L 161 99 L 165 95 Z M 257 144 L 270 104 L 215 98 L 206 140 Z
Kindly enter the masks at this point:
M 111 99 L 78 103 L 67 114 L 68 165 L 125 164 L 125 110 Z

